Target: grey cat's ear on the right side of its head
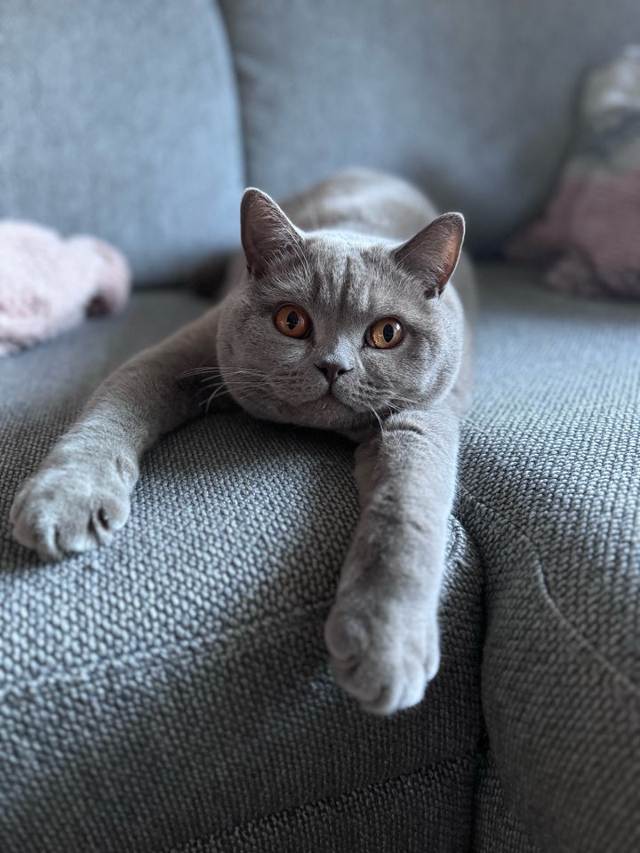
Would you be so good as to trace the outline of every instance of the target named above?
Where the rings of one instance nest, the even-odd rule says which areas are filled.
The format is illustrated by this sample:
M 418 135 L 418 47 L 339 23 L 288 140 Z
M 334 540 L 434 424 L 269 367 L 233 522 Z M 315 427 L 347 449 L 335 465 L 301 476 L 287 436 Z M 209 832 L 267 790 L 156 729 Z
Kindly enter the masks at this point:
M 424 285 L 430 299 L 440 296 L 453 275 L 464 240 L 461 213 L 444 213 L 393 253 L 398 267 Z

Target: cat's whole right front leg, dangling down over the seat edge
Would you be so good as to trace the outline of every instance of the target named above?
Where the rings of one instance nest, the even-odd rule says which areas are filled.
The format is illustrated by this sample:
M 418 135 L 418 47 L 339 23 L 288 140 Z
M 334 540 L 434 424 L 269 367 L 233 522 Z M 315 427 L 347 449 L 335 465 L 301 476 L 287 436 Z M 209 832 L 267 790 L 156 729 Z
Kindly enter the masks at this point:
M 393 415 L 356 452 L 362 510 L 324 636 L 337 682 L 372 713 L 420 702 L 439 666 L 457 410 Z

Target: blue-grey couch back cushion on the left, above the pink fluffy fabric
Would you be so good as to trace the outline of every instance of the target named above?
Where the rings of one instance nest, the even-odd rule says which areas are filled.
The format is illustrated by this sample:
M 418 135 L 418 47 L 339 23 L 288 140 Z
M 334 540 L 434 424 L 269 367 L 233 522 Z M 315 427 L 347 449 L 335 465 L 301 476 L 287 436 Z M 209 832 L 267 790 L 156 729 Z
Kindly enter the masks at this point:
M 209 0 L 3 0 L 0 217 L 92 233 L 136 279 L 235 244 L 235 83 Z

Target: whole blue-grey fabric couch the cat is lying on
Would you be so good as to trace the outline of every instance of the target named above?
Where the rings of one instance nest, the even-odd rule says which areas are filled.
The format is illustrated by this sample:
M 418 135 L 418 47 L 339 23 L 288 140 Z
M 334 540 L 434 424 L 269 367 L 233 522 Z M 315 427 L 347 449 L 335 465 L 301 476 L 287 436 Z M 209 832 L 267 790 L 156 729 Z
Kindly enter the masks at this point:
M 639 32 L 637 0 L 0 5 L 0 216 L 139 284 L 0 361 L 3 853 L 640 849 L 640 309 L 495 259 Z M 479 260 L 442 669 L 388 719 L 326 664 L 348 442 L 220 415 L 148 453 L 112 547 L 42 565 L 8 522 L 100 379 L 204 310 L 178 282 L 244 185 L 353 163 L 465 211 Z

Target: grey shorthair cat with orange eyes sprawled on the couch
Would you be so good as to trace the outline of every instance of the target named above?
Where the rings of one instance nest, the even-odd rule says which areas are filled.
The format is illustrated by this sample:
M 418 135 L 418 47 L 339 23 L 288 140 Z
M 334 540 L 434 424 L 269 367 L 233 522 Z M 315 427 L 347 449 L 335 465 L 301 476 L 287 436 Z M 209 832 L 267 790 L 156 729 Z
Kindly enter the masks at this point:
M 240 219 L 225 298 L 102 383 L 20 486 L 14 537 L 44 560 L 108 544 L 141 454 L 203 411 L 189 375 L 220 379 L 207 409 L 345 435 L 361 514 L 324 638 L 336 681 L 365 711 L 393 713 L 420 702 L 439 666 L 470 378 L 464 219 L 437 216 L 402 179 L 354 170 L 282 207 L 248 188 Z

